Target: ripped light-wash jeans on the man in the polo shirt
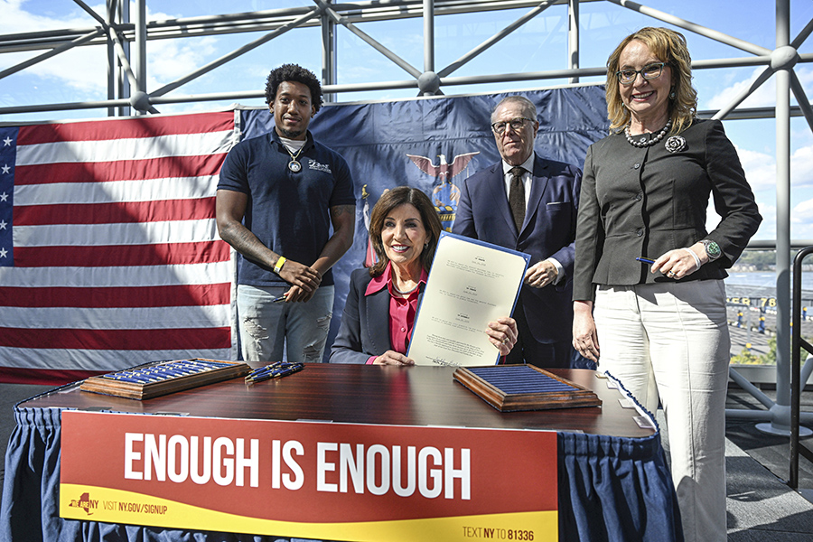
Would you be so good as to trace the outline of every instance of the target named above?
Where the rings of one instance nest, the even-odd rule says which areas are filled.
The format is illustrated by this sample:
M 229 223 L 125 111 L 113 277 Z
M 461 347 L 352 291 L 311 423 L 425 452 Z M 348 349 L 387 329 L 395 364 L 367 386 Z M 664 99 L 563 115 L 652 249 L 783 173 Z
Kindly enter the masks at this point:
M 321 363 L 333 310 L 333 286 L 322 286 L 306 303 L 272 303 L 287 286 L 238 285 L 238 322 L 243 359 L 274 363 Z

